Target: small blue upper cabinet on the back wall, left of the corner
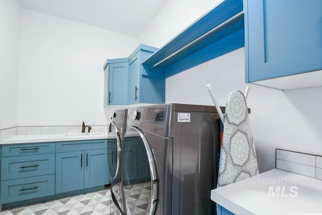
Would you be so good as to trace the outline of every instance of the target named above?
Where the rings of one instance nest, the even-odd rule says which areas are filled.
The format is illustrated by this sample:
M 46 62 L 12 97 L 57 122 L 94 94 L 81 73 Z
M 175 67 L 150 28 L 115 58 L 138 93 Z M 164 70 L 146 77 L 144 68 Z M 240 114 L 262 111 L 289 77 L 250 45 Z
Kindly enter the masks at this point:
M 104 66 L 104 104 L 123 105 L 127 103 L 128 58 L 108 60 Z

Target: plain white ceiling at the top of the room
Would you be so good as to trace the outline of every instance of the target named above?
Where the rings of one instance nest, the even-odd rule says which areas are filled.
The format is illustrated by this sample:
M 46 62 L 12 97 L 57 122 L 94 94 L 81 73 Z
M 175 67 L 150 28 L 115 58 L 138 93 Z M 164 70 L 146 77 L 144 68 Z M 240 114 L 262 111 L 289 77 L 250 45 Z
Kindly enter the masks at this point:
M 138 37 L 167 0 L 20 0 L 25 9 Z

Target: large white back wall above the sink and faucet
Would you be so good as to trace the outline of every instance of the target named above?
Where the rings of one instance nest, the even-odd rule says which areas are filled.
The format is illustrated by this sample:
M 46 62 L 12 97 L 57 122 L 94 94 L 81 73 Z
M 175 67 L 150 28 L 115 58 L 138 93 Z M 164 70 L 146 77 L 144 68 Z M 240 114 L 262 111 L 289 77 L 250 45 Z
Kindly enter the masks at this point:
M 128 56 L 136 38 L 22 10 L 18 126 L 106 125 L 107 58 Z

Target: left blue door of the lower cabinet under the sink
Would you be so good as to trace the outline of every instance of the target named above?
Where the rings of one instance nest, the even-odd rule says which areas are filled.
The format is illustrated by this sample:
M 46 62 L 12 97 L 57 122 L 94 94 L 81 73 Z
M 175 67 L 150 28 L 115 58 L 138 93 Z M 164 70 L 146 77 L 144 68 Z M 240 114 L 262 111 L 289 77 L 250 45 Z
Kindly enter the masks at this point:
M 84 188 L 84 151 L 56 153 L 55 193 Z

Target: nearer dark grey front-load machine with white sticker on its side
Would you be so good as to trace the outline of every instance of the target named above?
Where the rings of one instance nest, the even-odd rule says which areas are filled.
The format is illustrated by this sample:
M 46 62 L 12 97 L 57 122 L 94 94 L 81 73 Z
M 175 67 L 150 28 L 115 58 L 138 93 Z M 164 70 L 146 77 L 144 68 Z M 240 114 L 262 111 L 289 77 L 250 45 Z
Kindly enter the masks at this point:
M 121 157 L 127 214 L 214 214 L 218 152 L 214 106 L 129 109 Z

